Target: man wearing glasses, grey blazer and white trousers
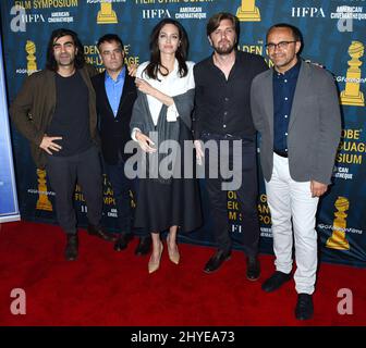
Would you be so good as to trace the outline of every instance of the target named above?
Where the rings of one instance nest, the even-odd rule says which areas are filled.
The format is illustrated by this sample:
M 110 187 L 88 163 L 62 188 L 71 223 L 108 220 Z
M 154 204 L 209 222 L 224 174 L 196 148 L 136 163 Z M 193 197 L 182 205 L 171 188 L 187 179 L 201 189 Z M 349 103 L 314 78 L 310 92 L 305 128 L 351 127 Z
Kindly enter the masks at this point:
M 293 227 L 295 315 L 306 320 L 314 311 L 315 215 L 319 197 L 330 184 L 341 136 L 338 92 L 331 74 L 297 57 L 302 35 L 296 27 L 273 25 L 266 46 L 274 69 L 258 75 L 251 91 L 253 121 L 261 135 L 260 162 L 276 254 L 276 272 L 263 289 L 274 291 L 292 278 Z

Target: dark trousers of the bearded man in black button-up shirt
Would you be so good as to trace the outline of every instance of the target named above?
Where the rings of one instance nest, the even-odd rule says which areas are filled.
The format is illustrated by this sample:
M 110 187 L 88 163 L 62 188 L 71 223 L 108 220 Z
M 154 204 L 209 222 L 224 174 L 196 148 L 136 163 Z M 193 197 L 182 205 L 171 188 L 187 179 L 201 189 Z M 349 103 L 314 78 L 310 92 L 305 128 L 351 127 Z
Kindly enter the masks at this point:
M 234 191 L 236 192 L 242 213 L 243 249 L 246 256 L 256 256 L 260 232 L 257 211 L 258 184 L 255 139 L 241 139 L 230 135 L 217 135 L 204 132 L 202 140 L 204 142 L 211 140 L 211 144 L 217 145 L 217 147 L 212 147 L 210 150 L 205 150 L 205 183 L 218 248 L 228 252 L 232 247 L 228 219 L 228 190 L 223 189 L 222 184 L 228 182 L 229 170 L 233 170 L 233 176 L 239 181 L 237 188 Z M 240 151 L 234 150 L 235 140 L 236 145 L 237 141 L 241 141 Z M 220 147 L 220 145 L 224 146 Z M 225 148 L 228 151 L 224 150 Z M 212 167 L 219 165 L 220 162 L 228 165 L 221 165 L 221 170 L 218 171 L 218 177 L 209 177 Z M 235 166 L 235 163 L 240 162 L 242 165 Z

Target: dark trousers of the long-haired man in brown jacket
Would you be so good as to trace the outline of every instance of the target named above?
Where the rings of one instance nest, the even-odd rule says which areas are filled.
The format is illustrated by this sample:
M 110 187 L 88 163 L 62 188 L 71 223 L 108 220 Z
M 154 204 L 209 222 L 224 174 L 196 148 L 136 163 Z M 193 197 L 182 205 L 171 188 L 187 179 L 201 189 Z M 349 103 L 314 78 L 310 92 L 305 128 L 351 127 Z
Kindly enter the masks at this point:
M 96 147 L 70 156 L 47 156 L 46 171 L 56 194 L 57 219 L 66 234 L 76 233 L 74 191 L 76 183 L 82 187 L 90 224 L 99 226 L 102 212 L 102 177 L 100 158 Z

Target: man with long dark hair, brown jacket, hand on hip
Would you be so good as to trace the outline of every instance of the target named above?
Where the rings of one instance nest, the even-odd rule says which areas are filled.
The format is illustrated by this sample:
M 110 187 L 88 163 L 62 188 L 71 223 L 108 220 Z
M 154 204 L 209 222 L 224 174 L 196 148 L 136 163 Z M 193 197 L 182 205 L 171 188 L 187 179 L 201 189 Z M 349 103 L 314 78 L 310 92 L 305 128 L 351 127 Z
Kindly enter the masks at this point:
M 30 141 L 37 167 L 47 170 L 56 192 L 57 219 L 68 237 L 66 260 L 75 260 L 78 253 L 73 207 L 76 182 L 87 203 L 88 233 L 113 239 L 100 227 L 102 181 L 94 74 L 85 64 L 76 33 L 56 29 L 48 44 L 46 69 L 26 78 L 10 108 L 15 126 Z

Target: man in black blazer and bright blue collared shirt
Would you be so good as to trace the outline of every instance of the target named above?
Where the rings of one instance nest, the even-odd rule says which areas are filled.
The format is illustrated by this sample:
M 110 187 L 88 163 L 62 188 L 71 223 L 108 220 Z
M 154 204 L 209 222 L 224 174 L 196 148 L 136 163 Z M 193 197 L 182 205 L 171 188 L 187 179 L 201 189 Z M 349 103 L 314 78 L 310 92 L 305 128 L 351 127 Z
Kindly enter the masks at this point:
M 107 34 L 98 40 L 98 50 L 106 71 L 93 77 L 97 97 L 101 150 L 105 169 L 113 187 L 118 210 L 119 238 L 114 250 L 127 247 L 132 237 L 133 214 L 130 191 L 136 198 L 137 179 L 130 179 L 124 172 L 129 156 L 124 146 L 131 139 L 130 121 L 132 107 L 137 97 L 134 78 L 124 65 L 124 47 L 118 35 Z M 149 234 L 142 232 L 136 254 L 146 254 L 150 249 Z

